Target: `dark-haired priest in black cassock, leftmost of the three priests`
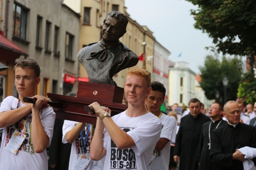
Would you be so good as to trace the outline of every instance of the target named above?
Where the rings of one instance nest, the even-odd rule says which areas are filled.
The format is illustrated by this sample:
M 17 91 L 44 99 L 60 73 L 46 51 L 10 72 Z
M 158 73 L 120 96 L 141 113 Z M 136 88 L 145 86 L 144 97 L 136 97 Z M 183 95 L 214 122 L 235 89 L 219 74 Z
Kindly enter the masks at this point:
M 210 121 L 210 118 L 200 113 L 198 99 L 191 99 L 188 107 L 190 114 L 181 118 L 173 158 L 176 163 L 180 160 L 180 170 L 198 170 L 197 156 L 202 125 Z

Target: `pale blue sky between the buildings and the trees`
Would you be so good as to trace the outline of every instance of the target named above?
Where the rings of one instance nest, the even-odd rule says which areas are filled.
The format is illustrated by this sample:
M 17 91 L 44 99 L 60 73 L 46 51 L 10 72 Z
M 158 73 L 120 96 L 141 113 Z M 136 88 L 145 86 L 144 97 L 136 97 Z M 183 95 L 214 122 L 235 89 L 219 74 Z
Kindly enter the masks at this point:
M 186 61 L 196 74 L 204 64 L 206 55 L 212 54 L 205 47 L 213 46 L 206 33 L 194 28 L 190 9 L 196 9 L 185 0 L 125 0 L 130 17 L 146 25 L 156 40 L 171 52 L 169 60 Z M 181 57 L 178 57 L 181 53 Z

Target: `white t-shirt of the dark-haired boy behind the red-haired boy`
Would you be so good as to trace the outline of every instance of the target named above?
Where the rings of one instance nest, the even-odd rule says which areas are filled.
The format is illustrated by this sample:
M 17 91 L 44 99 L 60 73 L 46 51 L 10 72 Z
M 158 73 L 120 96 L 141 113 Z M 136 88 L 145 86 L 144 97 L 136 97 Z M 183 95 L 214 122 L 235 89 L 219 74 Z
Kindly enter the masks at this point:
M 170 141 L 165 147 L 159 151 L 154 150 L 156 157 L 153 159 L 149 169 L 150 170 L 169 170 L 170 161 L 170 145 L 175 143 L 177 122 L 173 116 L 162 114 L 160 117 L 162 123 L 162 131 L 160 138 L 166 138 Z

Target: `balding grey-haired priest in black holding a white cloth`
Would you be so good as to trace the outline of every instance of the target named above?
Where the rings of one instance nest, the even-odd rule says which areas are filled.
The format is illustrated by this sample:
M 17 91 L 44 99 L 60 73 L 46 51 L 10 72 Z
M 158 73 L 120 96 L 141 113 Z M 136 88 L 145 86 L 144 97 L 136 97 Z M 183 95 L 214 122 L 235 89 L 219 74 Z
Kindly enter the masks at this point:
M 237 149 L 256 148 L 256 129 L 240 123 L 240 109 L 235 101 L 224 105 L 228 123 L 212 131 L 210 158 L 219 170 L 244 170 L 244 155 Z M 254 165 L 256 159 L 253 158 Z

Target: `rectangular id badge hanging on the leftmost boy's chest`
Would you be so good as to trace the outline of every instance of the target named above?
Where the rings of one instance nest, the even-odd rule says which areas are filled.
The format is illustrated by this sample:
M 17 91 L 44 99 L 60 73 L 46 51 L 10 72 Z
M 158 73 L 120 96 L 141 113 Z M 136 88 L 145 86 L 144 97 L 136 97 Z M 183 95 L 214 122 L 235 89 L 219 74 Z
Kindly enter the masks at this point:
M 7 143 L 5 149 L 9 150 L 13 154 L 16 154 L 20 149 L 23 141 L 25 140 L 26 135 L 19 132 L 17 129 L 12 133 L 10 141 Z

